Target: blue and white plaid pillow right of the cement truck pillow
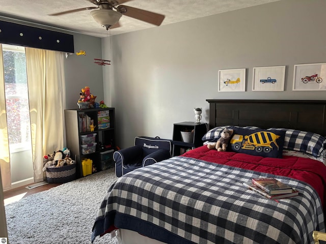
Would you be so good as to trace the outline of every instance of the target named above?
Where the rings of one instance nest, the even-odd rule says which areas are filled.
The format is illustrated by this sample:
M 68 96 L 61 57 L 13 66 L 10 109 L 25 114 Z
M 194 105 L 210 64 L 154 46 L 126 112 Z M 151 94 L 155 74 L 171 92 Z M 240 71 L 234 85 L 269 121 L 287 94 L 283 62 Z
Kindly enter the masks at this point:
M 285 131 L 283 148 L 301 151 L 314 157 L 320 157 L 324 150 L 326 139 L 321 135 L 284 128 L 269 128 L 268 130 Z

